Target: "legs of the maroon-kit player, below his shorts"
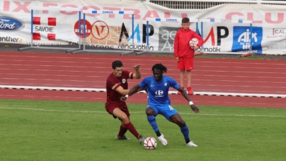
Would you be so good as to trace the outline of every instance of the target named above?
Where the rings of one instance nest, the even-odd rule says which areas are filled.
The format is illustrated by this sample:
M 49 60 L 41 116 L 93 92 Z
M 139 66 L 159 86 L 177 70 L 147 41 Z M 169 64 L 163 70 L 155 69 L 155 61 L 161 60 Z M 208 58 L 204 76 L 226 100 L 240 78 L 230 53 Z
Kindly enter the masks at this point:
M 139 143 L 142 143 L 144 141 L 144 138 L 142 137 L 142 135 L 139 135 L 139 133 L 137 132 L 135 126 L 133 126 L 133 124 L 130 122 L 129 116 L 130 113 L 128 111 L 122 111 L 122 109 L 119 108 L 115 108 L 113 110 L 113 115 L 115 117 L 118 117 L 118 119 L 121 121 L 121 126 L 120 126 L 120 131 L 118 133 L 119 137 L 124 137 L 125 135 L 121 135 L 122 133 L 126 133 L 126 129 L 128 131 L 130 131 L 130 133 L 132 133 L 138 140 Z

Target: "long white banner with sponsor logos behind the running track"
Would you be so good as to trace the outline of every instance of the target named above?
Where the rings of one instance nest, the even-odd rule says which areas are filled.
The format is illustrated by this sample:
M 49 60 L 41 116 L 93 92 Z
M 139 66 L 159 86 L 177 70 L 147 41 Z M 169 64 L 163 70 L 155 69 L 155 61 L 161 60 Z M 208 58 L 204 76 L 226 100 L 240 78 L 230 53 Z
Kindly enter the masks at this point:
M 71 45 L 79 43 L 80 31 L 81 42 L 85 40 L 88 46 L 130 49 L 134 42 L 135 50 L 146 50 L 148 30 L 150 50 L 173 52 L 173 38 L 181 28 L 175 20 L 189 17 L 198 20 L 190 28 L 205 40 L 204 52 L 249 52 L 252 46 L 253 53 L 282 55 L 286 54 L 285 16 L 285 6 L 278 5 L 222 4 L 210 9 L 174 10 L 126 0 L 5 0 L 0 1 L 0 43 Z M 147 29 L 146 18 L 164 21 L 150 19 Z

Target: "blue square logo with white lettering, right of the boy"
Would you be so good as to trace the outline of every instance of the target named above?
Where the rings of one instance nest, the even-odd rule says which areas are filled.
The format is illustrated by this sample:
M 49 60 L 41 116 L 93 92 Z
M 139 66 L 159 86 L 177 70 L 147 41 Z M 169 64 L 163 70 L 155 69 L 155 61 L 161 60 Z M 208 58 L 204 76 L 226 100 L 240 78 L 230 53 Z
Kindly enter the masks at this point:
M 249 52 L 252 45 L 252 52 L 262 54 L 261 41 L 263 36 L 263 28 L 249 26 L 234 26 L 234 40 L 232 44 L 232 52 Z

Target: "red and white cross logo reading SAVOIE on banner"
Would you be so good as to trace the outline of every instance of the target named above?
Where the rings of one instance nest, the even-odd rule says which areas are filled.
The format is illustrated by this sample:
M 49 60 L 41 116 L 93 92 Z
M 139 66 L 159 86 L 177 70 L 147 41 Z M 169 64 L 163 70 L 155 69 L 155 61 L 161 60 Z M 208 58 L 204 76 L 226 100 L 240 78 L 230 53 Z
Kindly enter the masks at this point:
M 56 40 L 56 34 L 54 26 L 57 26 L 57 18 L 49 17 L 47 21 L 44 20 L 42 22 L 41 17 L 33 17 L 33 24 L 35 25 L 33 40 L 41 40 L 41 33 L 47 34 L 48 40 Z M 46 24 L 47 26 L 41 26 L 42 24 Z

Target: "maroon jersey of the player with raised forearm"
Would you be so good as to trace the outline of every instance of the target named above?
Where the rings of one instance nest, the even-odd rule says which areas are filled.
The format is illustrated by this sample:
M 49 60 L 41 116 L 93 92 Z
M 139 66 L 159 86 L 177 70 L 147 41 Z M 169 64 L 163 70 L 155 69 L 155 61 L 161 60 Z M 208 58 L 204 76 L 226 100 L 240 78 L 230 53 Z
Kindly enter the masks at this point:
M 120 101 L 121 94 L 118 93 L 116 89 L 118 89 L 120 86 L 123 89 L 128 89 L 127 79 L 133 79 L 132 72 L 123 70 L 121 77 L 115 77 L 113 73 L 109 74 L 108 78 L 106 79 L 107 101 L 105 106 L 126 106 L 125 101 Z

